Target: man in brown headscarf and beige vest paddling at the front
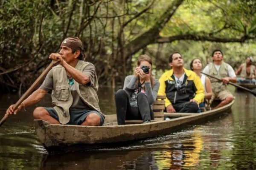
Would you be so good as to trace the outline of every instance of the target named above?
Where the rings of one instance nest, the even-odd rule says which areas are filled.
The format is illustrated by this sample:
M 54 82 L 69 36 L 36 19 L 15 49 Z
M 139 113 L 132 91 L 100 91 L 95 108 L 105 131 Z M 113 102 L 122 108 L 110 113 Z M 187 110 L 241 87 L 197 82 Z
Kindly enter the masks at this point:
M 48 91 L 52 91 L 53 108 L 38 107 L 34 119 L 51 124 L 103 125 L 104 115 L 99 108 L 96 94 L 98 80 L 92 63 L 82 60 L 83 43 L 78 37 L 69 37 L 61 43 L 59 53 L 49 59 L 59 61 L 47 74 L 43 84 L 26 98 L 17 110 L 11 105 L 6 114 L 16 114 L 22 109 L 39 102 Z

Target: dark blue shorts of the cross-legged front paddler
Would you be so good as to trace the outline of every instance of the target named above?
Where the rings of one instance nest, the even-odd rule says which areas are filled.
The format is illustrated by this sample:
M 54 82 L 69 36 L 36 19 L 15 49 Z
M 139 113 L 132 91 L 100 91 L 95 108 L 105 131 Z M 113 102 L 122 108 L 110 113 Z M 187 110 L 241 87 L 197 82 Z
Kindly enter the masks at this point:
M 44 108 L 48 111 L 50 116 L 52 116 L 54 119 L 59 121 L 58 114 L 54 110 L 54 108 L 46 108 L 46 107 L 44 107 Z M 93 110 L 87 110 L 87 111 L 84 111 L 84 110 L 70 110 L 70 121 L 67 123 L 67 125 L 81 125 L 90 113 L 96 113 L 97 115 L 99 115 L 99 117 L 100 117 L 99 125 L 100 126 L 102 126 L 104 124 L 104 119 L 105 118 L 98 111 L 93 111 Z

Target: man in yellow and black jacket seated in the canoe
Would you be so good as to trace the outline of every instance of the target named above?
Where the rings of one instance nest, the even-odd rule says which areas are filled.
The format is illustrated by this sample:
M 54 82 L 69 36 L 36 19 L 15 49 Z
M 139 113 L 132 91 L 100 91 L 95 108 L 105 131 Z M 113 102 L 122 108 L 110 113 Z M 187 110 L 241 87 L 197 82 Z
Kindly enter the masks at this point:
M 194 71 L 183 68 L 183 57 L 179 52 L 169 57 L 171 70 L 159 79 L 158 95 L 166 96 L 165 107 L 168 113 L 197 113 L 199 103 L 204 102 L 204 86 Z

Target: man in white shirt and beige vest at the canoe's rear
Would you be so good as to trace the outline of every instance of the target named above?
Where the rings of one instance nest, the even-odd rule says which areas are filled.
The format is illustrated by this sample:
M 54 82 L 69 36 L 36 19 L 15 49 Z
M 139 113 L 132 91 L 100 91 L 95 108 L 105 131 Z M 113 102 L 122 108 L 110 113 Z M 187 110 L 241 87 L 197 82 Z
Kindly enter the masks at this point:
M 231 92 L 227 89 L 227 83 L 236 83 L 236 74 L 231 65 L 223 61 L 223 53 L 221 50 L 214 50 L 212 52 L 212 61 L 203 70 L 203 73 L 209 74 L 210 76 L 222 79 L 220 82 L 218 79 L 209 77 L 212 83 L 212 98 L 210 103 L 215 99 L 220 99 L 221 103 L 215 108 L 220 108 L 224 105 L 229 104 L 235 99 Z

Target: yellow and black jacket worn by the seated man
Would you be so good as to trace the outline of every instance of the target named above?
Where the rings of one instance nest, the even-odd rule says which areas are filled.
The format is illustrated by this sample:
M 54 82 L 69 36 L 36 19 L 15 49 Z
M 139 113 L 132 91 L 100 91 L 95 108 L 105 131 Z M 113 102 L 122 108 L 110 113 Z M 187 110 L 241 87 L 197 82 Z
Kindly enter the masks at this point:
M 204 102 L 204 86 L 201 79 L 194 71 L 184 70 L 184 80 L 182 82 L 183 91 L 177 91 L 175 88 L 175 78 L 173 70 L 166 71 L 159 79 L 160 88 L 158 95 L 166 96 L 165 106 L 172 104 L 189 102 L 194 99 L 198 103 Z

